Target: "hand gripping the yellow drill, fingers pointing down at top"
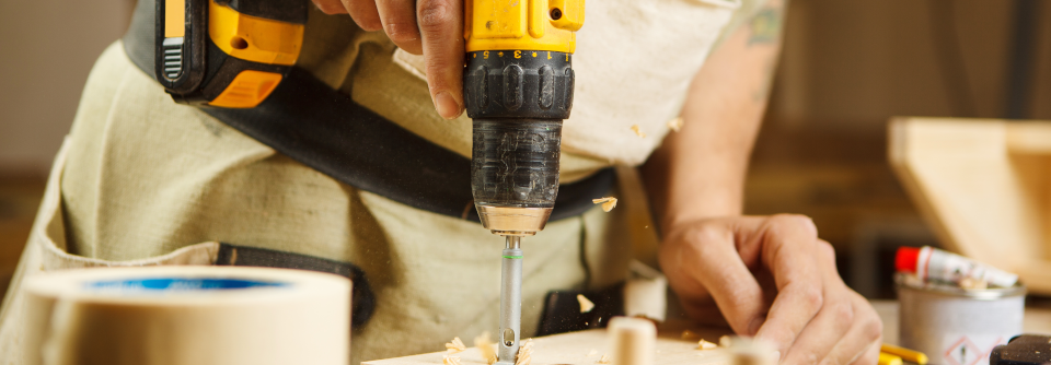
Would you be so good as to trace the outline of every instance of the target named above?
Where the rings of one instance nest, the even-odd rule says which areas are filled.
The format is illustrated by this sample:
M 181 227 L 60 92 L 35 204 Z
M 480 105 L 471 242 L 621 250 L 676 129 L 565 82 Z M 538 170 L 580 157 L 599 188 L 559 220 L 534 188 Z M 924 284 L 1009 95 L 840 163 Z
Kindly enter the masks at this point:
M 463 0 L 313 0 L 326 14 L 350 14 L 362 30 L 384 33 L 424 55 L 427 85 L 442 118 L 463 113 Z

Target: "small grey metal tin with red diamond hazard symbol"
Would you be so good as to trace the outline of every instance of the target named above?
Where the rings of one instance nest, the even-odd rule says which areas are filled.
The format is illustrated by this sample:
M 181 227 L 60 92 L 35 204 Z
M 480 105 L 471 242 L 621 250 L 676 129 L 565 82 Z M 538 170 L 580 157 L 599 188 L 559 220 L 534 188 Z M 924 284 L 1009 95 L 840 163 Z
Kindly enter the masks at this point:
M 894 278 L 901 345 L 931 364 L 988 365 L 997 344 L 1021 333 L 1026 287 L 963 290 Z M 913 276 L 914 278 L 914 276 Z

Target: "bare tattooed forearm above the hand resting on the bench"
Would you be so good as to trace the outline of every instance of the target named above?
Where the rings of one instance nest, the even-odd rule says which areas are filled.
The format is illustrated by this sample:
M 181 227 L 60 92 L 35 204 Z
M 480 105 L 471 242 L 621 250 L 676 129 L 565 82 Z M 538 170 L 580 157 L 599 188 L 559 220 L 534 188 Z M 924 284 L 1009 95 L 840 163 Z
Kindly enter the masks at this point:
M 784 3 L 772 0 L 697 72 L 670 133 L 643 176 L 663 232 L 681 222 L 739 215 L 744 177 L 779 50 Z

